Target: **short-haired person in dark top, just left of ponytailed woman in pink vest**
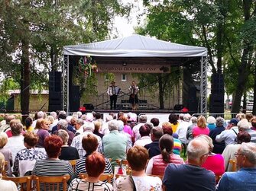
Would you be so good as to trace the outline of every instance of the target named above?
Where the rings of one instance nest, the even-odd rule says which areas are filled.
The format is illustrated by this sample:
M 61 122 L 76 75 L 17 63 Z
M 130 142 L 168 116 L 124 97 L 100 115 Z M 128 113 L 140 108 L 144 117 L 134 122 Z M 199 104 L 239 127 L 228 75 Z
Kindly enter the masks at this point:
M 151 140 L 152 142 L 145 145 L 144 148 L 147 148 L 149 158 L 153 158 L 154 156 L 161 153 L 159 148 L 159 139 L 164 135 L 163 129 L 159 126 L 153 127 L 151 130 Z

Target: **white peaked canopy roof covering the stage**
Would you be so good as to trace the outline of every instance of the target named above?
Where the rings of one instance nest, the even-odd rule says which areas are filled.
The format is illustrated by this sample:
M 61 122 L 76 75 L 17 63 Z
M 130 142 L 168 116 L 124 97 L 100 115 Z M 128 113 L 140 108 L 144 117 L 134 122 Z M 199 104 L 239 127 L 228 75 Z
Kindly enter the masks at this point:
M 155 40 L 138 34 L 98 43 L 64 46 L 64 55 L 105 57 L 197 57 L 207 49 Z

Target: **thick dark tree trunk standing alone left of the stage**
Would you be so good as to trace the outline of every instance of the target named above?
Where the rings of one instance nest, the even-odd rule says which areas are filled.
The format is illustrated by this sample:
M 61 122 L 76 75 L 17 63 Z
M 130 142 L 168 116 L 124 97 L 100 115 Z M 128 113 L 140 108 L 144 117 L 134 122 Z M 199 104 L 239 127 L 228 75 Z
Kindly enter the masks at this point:
M 24 121 L 29 114 L 29 86 L 30 86 L 30 67 L 29 67 L 29 43 L 28 40 L 21 40 L 21 114 Z

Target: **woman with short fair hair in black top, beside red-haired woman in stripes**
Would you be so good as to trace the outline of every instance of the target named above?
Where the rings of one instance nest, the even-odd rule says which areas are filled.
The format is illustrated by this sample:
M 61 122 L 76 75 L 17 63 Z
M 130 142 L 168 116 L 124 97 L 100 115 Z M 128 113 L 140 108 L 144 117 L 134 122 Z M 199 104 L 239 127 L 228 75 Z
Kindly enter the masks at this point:
M 65 160 L 65 161 L 79 159 L 79 154 L 78 154 L 77 149 L 67 145 L 67 142 L 69 140 L 69 134 L 65 130 L 59 129 L 57 131 L 57 135 L 63 141 L 63 145 L 61 147 L 61 152 L 60 152 L 60 157 L 59 158 L 61 160 Z

